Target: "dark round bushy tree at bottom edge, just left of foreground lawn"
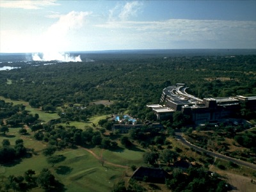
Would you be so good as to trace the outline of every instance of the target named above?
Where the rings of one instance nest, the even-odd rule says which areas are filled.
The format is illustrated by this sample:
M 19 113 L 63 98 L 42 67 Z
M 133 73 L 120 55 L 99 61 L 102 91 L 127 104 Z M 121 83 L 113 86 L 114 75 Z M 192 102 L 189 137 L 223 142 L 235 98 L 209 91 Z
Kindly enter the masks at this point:
M 54 175 L 47 168 L 44 168 L 38 175 L 36 182 L 41 188 L 50 189 L 55 185 L 56 180 Z

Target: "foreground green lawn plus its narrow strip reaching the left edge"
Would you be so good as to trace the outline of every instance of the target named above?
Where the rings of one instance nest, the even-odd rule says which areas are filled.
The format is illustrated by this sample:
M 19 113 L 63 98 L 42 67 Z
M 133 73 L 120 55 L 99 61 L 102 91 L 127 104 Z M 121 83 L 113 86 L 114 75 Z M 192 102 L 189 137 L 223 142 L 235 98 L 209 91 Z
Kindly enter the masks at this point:
M 53 168 L 47 164 L 42 154 L 22 159 L 20 164 L 0 167 L 1 175 L 22 175 L 26 170 L 35 170 L 38 174 L 43 168 L 49 168 L 67 191 L 111 191 L 113 185 L 122 177 L 125 168 L 116 168 L 108 164 L 102 166 L 92 154 L 81 148 L 66 149 L 56 154 L 63 154 L 67 159 Z

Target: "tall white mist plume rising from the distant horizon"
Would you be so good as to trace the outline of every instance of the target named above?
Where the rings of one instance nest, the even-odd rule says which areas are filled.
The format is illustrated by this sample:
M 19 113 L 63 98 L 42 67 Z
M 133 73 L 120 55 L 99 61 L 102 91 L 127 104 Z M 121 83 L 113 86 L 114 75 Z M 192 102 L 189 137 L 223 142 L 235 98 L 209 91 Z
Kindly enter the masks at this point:
M 42 56 L 33 54 L 33 60 L 81 61 L 80 56 L 71 57 L 64 51 L 68 49 L 70 44 L 68 36 L 82 28 L 85 17 L 90 14 L 91 12 L 72 11 L 67 15 L 55 15 L 55 17 L 58 16 L 58 20 L 47 29 L 41 40 L 38 40 L 38 47 L 42 50 Z

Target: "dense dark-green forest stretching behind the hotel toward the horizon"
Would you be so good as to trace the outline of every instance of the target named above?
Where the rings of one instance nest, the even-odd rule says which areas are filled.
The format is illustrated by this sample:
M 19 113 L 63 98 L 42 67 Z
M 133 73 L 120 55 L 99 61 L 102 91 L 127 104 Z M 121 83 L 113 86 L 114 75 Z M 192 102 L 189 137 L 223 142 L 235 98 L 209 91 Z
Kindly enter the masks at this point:
M 186 83 L 189 92 L 200 98 L 256 95 L 255 60 L 255 55 L 133 56 L 55 65 L 37 62 L 1 71 L 0 94 L 26 100 L 45 111 L 64 104 L 88 106 L 94 100 L 106 99 L 115 102 L 114 111 L 125 108 L 139 115 L 145 104 L 158 103 L 163 88 L 175 83 Z

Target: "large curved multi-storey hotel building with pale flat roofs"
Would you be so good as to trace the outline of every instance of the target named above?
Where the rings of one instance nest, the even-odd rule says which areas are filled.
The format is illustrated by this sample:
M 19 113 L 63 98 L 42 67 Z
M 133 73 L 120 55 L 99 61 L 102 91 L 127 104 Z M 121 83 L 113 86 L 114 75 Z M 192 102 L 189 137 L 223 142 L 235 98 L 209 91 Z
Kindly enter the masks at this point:
M 204 123 L 236 114 L 241 108 L 241 102 L 244 102 L 248 108 L 256 109 L 256 96 L 237 95 L 236 97 L 199 99 L 186 93 L 187 88 L 186 84 L 183 83 L 164 88 L 160 101 L 165 104 L 165 107 L 159 108 L 158 104 L 150 105 L 157 116 L 157 120 L 171 118 L 175 111 L 181 111 L 190 115 L 196 124 Z M 148 107 L 150 106 L 148 105 Z

